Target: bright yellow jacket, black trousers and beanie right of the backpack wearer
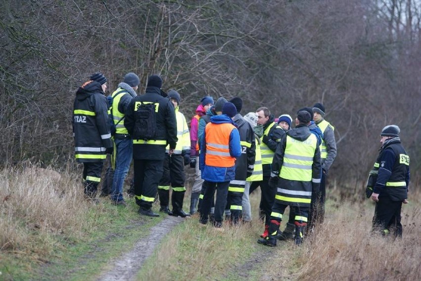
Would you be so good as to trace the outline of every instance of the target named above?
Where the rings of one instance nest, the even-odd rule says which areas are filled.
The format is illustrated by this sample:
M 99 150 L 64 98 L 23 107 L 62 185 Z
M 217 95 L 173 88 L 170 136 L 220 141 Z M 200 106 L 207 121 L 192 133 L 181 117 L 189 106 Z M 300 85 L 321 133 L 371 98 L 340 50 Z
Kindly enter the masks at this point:
M 176 92 L 171 90 L 168 93 L 170 98 Z M 179 94 L 177 93 L 177 102 L 179 103 Z M 190 133 L 187 126 L 186 118 L 178 111 L 179 107 L 175 108 L 175 117 L 177 120 L 177 145 L 175 146 L 172 155 L 169 155 L 169 146 L 167 146 L 165 161 L 164 161 L 164 174 L 158 185 L 158 194 L 162 211 L 166 211 L 172 215 L 180 215 L 185 217 L 186 213 L 183 211 L 183 201 L 186 188 L 184 187 L 185 175 L 184 165 L 189 164 L 190 161 Z M 171 203 L 172 212 L 168 211 L 169 203 L 169 186 L 172 187 Z

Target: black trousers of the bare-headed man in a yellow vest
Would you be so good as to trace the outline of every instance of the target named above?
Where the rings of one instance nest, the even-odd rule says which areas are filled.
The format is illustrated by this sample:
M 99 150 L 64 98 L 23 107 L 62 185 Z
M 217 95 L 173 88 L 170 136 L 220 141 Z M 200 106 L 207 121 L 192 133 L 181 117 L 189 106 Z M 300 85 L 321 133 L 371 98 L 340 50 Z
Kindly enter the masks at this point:
M 262 181 L 254 181 L 250 186 L 249 193 L 252 193 L 257 187 L 260 186 L 261 197 L 260 197 L 260 218 L 264 219 L 264 224 L 269 225 L 270 213 L 272 212 L 272 206 L 275 201 L 276 187 L 269 186 L 269 178 L 263 177 Z

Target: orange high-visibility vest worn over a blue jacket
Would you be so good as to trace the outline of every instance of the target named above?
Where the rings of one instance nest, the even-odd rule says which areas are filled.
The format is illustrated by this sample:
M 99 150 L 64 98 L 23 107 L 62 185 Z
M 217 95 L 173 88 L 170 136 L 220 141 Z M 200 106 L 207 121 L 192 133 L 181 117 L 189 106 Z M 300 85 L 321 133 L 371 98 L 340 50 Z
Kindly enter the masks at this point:
M 235 126 L 230 123 L 206 125 L 206 165 L 213 167 L 235 165 L 235 158 L 229 153 L 229 137 L 234 128 Z

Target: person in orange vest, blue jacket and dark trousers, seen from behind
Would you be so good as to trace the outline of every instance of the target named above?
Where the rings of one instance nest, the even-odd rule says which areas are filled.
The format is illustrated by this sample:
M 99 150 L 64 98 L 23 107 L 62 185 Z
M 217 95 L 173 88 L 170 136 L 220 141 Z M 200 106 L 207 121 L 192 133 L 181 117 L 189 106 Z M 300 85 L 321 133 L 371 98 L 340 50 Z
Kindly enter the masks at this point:
M 200 224 L 208 223 L 211 201 L 217 190 L 213 226 L 221 231 L 229 182 L 235 177 L 235 160 L 241 155 L 240 134 L 232 121 L 236 114 L 235 106 L 227 102 L 222 115 L 211 117 L 200 144 L 200 168 L 207 185 L 200 209 Z

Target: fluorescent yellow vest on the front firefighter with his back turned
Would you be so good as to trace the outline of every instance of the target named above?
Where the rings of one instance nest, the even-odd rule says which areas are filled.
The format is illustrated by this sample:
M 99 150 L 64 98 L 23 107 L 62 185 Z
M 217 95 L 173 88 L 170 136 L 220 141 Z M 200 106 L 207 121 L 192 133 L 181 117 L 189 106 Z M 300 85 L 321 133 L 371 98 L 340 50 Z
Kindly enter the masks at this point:
M 284 162 L 279 177 L 287 180 L 311 181 L 311 166 L 316 148 L 317 138 L 314 134 L 310 134 L 305 141 L 299 141 L 287 135 Z

